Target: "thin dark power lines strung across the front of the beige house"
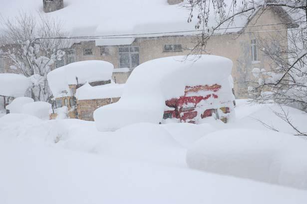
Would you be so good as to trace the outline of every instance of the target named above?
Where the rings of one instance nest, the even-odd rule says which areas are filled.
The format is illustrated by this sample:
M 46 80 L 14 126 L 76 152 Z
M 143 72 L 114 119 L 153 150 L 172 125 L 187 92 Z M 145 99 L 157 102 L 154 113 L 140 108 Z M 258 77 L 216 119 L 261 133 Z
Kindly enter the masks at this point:
M 228 28 L 217 28 L 216 30 L 231 30 L 231 29 L 236 29 L 236 28 L 261 27 L 261 26 L 282 25 L 282 24 L 291 24 L 291 23 L 304 23 L 304 22 L 306 21 L 293 21 L 293 22 L 271 23 L 271 24 L 263 24 L 263 25 L 237 26 L 237 27 L 228 27 Z M 288 30 L 288 29 L 285 29 L 285 30 Z M 255 31 L 255 32 L 244 32 L 244 33 L 272 32 L 272 31 L 285 31 L 285 30 Z M 136 36 L 151 37 L 151 36 L 146 36 L 146 35 L 188 33 L 188 32 L 189 33 L 201 32 L 201 30 L 184 30 L 184 31 L 170 31 L 170 32 L 119 34 L 119 35 L 71 36 L 71 37 L 50 37 L 50 38 L 45 37 L 45 38 L 36 38 L 35 40 L 39 40 L 39 39 L 125 39 L 125 38 L 135 38 Z M 217 34 L 227 34 L 227 33 L 217 33 Z M 201 35 L 201 33 L 187 34 L 183 36 L 191 36 L 191 35 Z M 161 36 L 152 36 L 152 37 L 161 37 Z

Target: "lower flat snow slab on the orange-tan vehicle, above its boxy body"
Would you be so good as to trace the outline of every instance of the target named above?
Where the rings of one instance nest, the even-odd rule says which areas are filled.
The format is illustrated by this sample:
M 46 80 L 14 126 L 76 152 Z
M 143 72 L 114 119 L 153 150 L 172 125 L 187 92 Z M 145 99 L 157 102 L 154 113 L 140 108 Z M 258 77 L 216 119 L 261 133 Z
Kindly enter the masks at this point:
M 106 84 L 92 87 L 86 83 L 76 91 L 77 100 L 118 98 L 123 93 L 124 84 Z

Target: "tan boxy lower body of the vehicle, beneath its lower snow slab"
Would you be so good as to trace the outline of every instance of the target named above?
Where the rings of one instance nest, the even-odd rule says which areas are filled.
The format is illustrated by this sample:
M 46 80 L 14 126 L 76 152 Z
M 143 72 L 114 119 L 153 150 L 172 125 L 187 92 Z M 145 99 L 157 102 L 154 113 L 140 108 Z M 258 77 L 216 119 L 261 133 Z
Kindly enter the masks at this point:
M 119 99 L 120 98 L 78 100 L 77 101 L 78 119 L 94 121 L 93 113 L 98 107 L 113 102 L 118 102 Z

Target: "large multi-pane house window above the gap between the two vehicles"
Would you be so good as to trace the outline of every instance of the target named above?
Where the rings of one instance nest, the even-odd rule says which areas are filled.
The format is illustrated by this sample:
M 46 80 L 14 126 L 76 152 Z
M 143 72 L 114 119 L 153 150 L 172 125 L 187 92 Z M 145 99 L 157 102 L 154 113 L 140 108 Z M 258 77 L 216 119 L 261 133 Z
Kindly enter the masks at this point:
M 133 69 L 140 64 L 139 47 L 119 48 L 119 67 Z

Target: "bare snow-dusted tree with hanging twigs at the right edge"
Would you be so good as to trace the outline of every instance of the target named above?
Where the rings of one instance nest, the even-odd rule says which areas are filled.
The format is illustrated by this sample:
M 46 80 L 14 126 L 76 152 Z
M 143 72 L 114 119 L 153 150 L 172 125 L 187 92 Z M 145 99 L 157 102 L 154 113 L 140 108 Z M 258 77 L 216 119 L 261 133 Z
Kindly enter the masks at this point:
M 209 39 L 221 30 L 227 32 L 237 16 L 246 17 L 244 29 L 252 17 L 273 7 L 295 14 L 294 20 L 301 22 L 300 27 L 288 30 L 288 36 L 257 40 L 259 50 L 273 63 L 270 70 L 253 69 L 257 81 L 246 83 L 253 85 L 248 91 L 254 102 L 292 105 L 307 112 L 307 0 L 189 0 L 185 6 L 190 9 L 188 21 L 196 19 L 195 28 L 201 30 L 192 54 L 206 52 Z M 288 44 L 281 45 L 281 41 Z M 292 124 L 286 112 L 277 115 L 298 134 L 306 134 Z

